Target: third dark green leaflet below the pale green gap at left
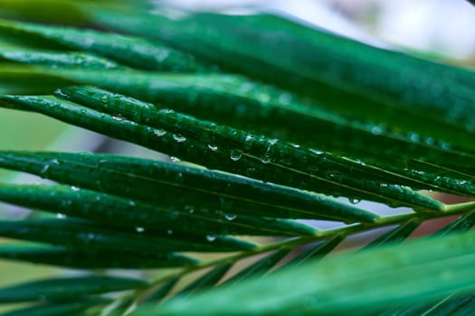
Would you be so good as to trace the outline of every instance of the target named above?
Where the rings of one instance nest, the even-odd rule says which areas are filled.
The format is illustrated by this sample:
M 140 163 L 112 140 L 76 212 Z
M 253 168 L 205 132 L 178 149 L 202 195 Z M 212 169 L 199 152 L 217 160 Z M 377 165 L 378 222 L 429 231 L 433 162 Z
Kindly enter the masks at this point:
M 126 232 L 102 228 L 75 219 L 28 219 L 0 221 L 0 236 L 50 243 L 75 250 L 119 251 L 124 254 L 165 257 L 174 251 L 250 250 L 255 244 L 221 236 L 194 236 L 163 232 L 147 236 L 147 231 Z

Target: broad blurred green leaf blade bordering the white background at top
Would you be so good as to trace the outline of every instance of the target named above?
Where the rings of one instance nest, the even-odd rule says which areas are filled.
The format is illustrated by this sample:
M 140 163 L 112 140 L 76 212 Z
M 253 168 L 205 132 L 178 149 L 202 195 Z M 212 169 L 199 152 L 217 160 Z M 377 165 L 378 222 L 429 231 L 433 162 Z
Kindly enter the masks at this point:
M 371 47 L 270 14 L 191 14 L 171 20 L 157 14 L 104 13 L 97 23 L 156 38 L 223 68 L 294 89 L 326 106 L 339 106 L 347 114 L 381 119 L 403 111 L 455 128 L 458 122 L 473 126 L 473 72 Z M 357 107 L 349 107 L 348 101 Z M 421 128 L 409 121 L 411 128 Z

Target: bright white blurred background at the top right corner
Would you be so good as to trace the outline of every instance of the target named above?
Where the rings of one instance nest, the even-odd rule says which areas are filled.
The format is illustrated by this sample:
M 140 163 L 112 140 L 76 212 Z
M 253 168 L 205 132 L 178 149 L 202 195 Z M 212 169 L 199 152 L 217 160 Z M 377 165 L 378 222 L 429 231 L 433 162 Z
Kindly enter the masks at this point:
M 365 42 L 475 58 L 475 6 L 466 0 L 156 0 L 187 11 L 278 12 Z

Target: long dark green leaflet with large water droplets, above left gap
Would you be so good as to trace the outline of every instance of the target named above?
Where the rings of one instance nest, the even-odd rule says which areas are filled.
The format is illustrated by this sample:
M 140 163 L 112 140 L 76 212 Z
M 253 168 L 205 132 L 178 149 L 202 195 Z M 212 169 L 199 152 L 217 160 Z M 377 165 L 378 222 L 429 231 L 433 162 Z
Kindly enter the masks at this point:
M 219 126 L 200 122 L 191 116 L 181 116 L 170 110 L 166 112 L 178 126 L 181 125 L 182 120 L 184 121 L 182 128 L 179 129 L 181 134 L 166 133 L 164 135 L 163 130 L 57 98 L 5 96 L 3 99 L 7 103 L 17 104 L 20 108 L 26 107 L 39 111 L 65 122 L 81 125 L 106 135 L 175 155 L 192 163 L 202 163 L 226 172 L 245 174 L 263 181 L 296 186 L 310 191 L 334 195 L 344 194 L 367 200 L 383 200 L 396 205 L 444 209 L 439 201 L 399 185 L 380 185 L 376 181 L 359 181 L 356 179 L 356 174 L 358 169 L 365 168 L 364 164 L 342 162 L 341 159 L 329 153 L 316 153 L 307 148 L 299 148 L 264 136 L 251 135 L 251 141 L 246 141 L 247 133 L 228 127 L 223 127 L 220 135 L 223 137 L 222 142 L 225 139 L 231 145 L 227 148 L 219 147 L 210 153 L 208 147 L 210 143 L 207 142 L 213 141 L 213 138 L 202 134 L 210 128 L 220 129 Z M 173 118 L 176 115 L 181 118 Z M 186 122 L 189 120 L 192 120 L 194 124 Z M 204 127 L 203 124 L 211 125 Z M 193 127 L 198 127 L 201 132 L 198 135 L 202 135 L 204 139 L 197 141 L 186 138 L 184 134 L 188 135 Z M 114 133 L 111 132 L 112 130 Z M 204 155 L 204 153 L 208 154 Z M 353 171 L 356 172 L 355 176 L 350 176 L 349 172 Z M 286 174 L 286 177 L 282 177 L 283 174 Z

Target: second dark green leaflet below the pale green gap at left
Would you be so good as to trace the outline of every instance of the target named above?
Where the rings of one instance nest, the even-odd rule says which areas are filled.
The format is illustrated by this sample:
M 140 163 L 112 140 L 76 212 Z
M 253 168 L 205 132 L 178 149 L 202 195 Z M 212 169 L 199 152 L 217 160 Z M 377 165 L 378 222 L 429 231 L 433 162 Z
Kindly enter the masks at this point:
M 89 181 L 92 180 L 88 178 Z M 160 189 L 157 188 L 157 191 Z M 125 190 L 130 189 L 127 187 Z M 144 187 L 140 187 L 140 190 L 143 191 Z M 157 198 L 153 192 L 156 190 L 150 190 L 147 194 Z M 156 200 L 157 205 L 154 205 L 69 186 L 0 183 L 0 200 L 5 202 L 86 218 L 104 226 L 128 228 L 128 230 L 140 228 L 147 231 L 148 235 L 190 231 L 202 236 L 210 234 L 295 236 L 317 233 L 317 229 L 290 220 L 238 217 L 236 213 L 205 209 L 205 203 L 196 205 L 196 209 L 191 209 L 195 208 L 193 204 L 187 204 L 187 209 L 180 208 L 180 204 L 175 201 L 180 199 L 180 194 L 174 193 L 176 192 L 162 191 L 164 196 L 171 198 L 169 203 Z M 183 193 L 187 194 L 186 191 Z

